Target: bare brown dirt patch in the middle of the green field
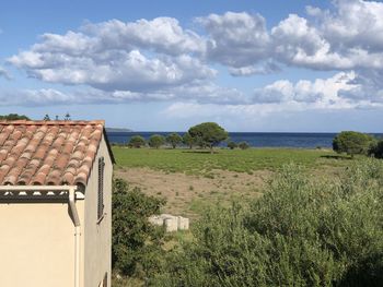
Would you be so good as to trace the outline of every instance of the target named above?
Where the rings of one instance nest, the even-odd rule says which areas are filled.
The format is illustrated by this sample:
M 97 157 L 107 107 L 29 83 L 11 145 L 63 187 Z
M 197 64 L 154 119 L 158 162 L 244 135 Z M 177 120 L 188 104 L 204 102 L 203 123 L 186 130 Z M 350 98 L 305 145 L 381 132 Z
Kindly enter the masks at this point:
M 272 174 L 266 170 L 252 175 L 213 170 L 207 176 L 169 174 L 149 168 L 121 168 L 115 177 L 127 180 L 146 194 L 166 199 L 164 212 L 195 218 L 200 207 L 232 198 L 257 198 Z

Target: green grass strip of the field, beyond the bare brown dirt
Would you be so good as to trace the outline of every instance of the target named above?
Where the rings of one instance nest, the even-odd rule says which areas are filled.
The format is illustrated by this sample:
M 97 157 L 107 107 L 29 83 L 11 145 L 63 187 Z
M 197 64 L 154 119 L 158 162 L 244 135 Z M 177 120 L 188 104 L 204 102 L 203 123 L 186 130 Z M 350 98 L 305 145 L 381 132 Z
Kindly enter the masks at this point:
M 117 166 L 148 167 L 165 172 L 185 172 L 212 178 L 213 170 L 247 172 L 255 170 L 278 170 L 282 165 L 294 162 L 304 167 L 341 167 L 348 165 L 348 157 L 327 150 L 303 148 L 248 148 L 217 150 L 214 154 L 190 150 L 155 150 L 113 147 Z

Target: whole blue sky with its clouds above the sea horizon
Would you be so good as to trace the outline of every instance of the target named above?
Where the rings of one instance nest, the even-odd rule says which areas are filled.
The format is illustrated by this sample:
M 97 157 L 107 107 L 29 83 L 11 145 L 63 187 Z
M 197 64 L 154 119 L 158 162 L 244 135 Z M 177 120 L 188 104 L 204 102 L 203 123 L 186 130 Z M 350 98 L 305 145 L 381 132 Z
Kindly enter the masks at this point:
M 0 3 L 0 115 L 382 132 L 382 1 Z

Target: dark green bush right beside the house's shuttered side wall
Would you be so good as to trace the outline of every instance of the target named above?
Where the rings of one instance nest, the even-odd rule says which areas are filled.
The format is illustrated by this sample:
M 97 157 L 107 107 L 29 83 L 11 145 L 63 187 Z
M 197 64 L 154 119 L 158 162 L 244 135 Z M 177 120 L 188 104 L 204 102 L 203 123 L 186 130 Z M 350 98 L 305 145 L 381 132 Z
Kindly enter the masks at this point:
M 126 181 L 113 182 L 113 244 L 114 272 L 120 276 L 143 277 L 160 265 L 163 228 L 152 226 L 148 217 L 159 214 L 164 201 L 130 189 Z

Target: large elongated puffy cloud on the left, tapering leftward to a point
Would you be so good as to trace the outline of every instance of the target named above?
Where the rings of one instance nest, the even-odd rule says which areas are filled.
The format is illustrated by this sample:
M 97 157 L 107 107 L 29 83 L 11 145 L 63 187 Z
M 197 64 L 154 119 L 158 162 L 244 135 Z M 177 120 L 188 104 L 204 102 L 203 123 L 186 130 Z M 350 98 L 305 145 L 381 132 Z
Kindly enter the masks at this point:
M 65 35 L 45 34 L 8 61 L 45 82 L 155 92 L 214 77 L 213 69 L 193 57 L 204 49 L 201 38 L 175 19 L 113 20 Z

